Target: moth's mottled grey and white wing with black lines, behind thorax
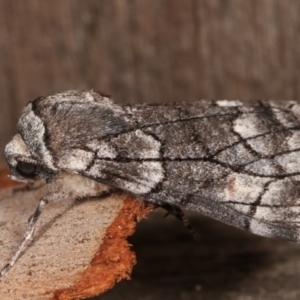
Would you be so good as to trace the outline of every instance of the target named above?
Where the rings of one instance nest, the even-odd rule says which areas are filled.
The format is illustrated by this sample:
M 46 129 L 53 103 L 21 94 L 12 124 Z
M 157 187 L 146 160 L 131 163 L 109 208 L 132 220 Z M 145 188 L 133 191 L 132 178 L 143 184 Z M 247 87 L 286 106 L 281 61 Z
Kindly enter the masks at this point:
M 298 103 L 202 101 L 126 110 L 134 110 L 136 127 L 95 143 L 85 176 L 256 234 L 299 240 Z

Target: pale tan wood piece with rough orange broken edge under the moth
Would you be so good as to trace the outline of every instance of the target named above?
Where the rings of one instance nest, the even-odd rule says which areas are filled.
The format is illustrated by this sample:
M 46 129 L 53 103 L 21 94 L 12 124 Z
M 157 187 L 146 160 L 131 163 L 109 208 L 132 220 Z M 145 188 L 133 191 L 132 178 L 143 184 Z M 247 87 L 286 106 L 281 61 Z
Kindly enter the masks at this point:
M 0 169 L 0 265 L 21 240 L 28 217 L 45 186 L 7 188 Z M 3 185 L 2 182 L 5 182 Z M 6 188 L 3 188 L 6 186 Z M 151 211 L 125 194 L 49 204 L 33 241 L 14 267 L 0 279 L 6 300 L 72 300 L 99 295 L 122 279 L 130 279 L 135 254 L 126 238 L 137 221 Z

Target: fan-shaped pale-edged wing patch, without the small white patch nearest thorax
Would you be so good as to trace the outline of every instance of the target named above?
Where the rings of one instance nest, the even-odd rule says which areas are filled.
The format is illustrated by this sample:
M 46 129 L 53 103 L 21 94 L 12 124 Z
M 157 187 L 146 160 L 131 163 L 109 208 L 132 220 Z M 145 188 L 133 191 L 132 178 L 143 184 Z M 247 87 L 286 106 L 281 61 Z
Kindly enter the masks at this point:
M 92 178 L 105 180 L 107 174 L 114 174 L 111 179 L 114 185 L 134 194 L 146 194 L 164 177 L 160 161 L 145 161 L 160 158 L 161 144 L 142 130 L 120 134 L 98 144 L 91 142 L 88 146 L 97 151 L 97 160 L 88 172 Z M 125 161 L 114 162 L 115 157 Z

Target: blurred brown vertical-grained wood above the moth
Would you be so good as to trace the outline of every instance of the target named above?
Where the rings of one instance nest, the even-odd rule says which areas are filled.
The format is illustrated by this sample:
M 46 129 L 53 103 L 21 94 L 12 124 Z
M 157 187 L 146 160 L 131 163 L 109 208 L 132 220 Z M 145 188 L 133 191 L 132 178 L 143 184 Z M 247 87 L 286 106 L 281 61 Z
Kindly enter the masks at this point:
M 27 101 L 66 89 L 121 102 L 298 99 L 299 10 L 296 0 L 3 0 L 0 148 Z

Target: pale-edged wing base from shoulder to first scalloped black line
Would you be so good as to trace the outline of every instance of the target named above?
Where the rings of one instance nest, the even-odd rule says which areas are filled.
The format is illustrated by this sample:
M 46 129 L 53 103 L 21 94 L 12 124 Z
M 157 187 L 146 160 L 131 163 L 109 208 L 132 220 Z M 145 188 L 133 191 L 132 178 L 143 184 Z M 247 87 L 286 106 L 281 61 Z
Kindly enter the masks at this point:
M 141 130 L 94 139 L 60 156 L 59 166 L 136 195 L 150 193 L 163 180 L 160 143 Z

